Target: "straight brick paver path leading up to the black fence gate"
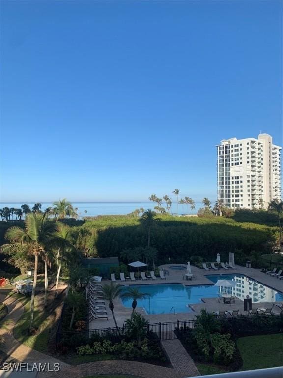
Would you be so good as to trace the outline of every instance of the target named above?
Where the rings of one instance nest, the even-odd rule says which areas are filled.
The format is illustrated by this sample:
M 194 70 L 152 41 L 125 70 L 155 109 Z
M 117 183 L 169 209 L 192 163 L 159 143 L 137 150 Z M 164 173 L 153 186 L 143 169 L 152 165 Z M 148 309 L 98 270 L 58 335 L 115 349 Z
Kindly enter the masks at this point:
M 173 368 L 180 373 L 181 377 L 200 376 L 193 359 L 178 339 L 163 340 L 161 342 Z

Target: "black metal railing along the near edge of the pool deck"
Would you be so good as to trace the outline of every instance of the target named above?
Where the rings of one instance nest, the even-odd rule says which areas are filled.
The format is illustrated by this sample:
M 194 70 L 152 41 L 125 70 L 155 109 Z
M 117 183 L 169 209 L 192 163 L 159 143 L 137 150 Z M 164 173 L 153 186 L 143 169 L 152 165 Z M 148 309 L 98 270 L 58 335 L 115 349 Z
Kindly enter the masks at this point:
M 262 326 L 264 321 L 264 326 L 268 327 L 268 324 L 274 321 L 274 319 L 280 319 L 282 321 L 282 315 L 255 315 L 255 316 L 239 316 L 239 317 L 229 317 L 226 319 L 219 319 L 221 322 L 229 322 L 233 329 L 238 333 L 241 332 L 241 321 L 248 323 L 249 326 L 256 327 L 258 324 Z M 196 326 L 196 320 L 185 320 L 185 321 L 172 321 L 172 322 L 159 322 L 148 324 L 145 327 L 145 331 L 154 332 L 159 340 L 172 340 L 177 339 L 178 332 L 187 332 L 189 329 L 194 329 Z M 56 342 L 60 342 L 62 339 L 69 340 L 73 337 L 76 338 L 86 338 L 90 339 L 92 336 L 97 335 L 100 337 L 105 337 L 111 335 L 112 338 L 120 338 L 127 333 L 127 327 L 118 327 L 115 328 L 99 328 L 85 331 L 61 331 L 61 328 L 58 326 L 56 334 Z

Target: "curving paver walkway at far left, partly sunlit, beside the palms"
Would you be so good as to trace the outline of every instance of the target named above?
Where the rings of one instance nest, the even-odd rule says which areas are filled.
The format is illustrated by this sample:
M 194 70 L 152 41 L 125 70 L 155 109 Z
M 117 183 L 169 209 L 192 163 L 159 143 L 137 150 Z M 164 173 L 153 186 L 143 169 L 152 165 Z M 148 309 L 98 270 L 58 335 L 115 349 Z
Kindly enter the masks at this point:
M 20 301 L 17 301 L 14 298 L 13 295 L 5 298 L 5 295 L 0 293 L 0 302 L 7 305 L 9 310 L 8 315 L 6 315 L 4 318 L 5 327 L 0 329 L 0 336 L 3 336 L 4 338 L 4 344 L 1 345 L 1 350 L 3 352 L 18 361 L 27 362 L 30 365 L 32 365 L 34 362 L 49 362 L 50 364 L 57 362 L 61 365 L 61 367 L 69 366 L 57 358 L 38 352 L 37 350 L 31 349 L 30 347 L 19 343 L 13 336 L 13 329 L 17 321 L 22 316 L 24 307 Z

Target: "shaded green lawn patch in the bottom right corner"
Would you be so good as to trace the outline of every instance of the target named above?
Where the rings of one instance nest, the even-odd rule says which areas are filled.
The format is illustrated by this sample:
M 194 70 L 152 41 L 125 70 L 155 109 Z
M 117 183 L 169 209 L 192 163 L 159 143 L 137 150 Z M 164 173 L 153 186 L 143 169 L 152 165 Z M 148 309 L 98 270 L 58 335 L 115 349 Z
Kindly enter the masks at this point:
M 237 345 L 244 361 L 241 370 L 282 366 L 282 334 L 241 337 Z

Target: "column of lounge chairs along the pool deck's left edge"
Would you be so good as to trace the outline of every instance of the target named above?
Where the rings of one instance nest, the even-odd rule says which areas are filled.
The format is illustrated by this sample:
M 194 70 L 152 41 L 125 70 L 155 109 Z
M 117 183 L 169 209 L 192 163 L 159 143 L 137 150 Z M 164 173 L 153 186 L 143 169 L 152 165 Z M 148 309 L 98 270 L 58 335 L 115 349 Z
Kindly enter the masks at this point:
M 88 285 L 88 312 L 89 320 L 108 320 L 102 285 L 100 284 L 90 283 Z

